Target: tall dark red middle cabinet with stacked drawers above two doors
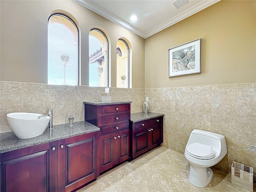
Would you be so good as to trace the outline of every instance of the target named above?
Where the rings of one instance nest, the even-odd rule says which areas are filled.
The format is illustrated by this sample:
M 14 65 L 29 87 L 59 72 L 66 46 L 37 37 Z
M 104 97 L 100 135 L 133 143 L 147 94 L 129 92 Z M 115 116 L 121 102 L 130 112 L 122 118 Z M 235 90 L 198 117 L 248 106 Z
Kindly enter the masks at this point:
M 100 128 L 100 173 L 129 159 L 130 103 L 85 104 L 85 120 Z

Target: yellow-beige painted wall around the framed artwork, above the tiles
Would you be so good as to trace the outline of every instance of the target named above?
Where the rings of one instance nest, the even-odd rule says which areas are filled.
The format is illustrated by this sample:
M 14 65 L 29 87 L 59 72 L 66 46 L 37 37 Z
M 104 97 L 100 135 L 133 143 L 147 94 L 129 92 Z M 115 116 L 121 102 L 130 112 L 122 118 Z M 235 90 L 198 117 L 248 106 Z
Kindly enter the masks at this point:
M 168 49 L 197 38 L 201 73 L 168 77 Z M 256 82 L 255 0 L 222 0 L 145 40 L 145 88 L 248 82 Z

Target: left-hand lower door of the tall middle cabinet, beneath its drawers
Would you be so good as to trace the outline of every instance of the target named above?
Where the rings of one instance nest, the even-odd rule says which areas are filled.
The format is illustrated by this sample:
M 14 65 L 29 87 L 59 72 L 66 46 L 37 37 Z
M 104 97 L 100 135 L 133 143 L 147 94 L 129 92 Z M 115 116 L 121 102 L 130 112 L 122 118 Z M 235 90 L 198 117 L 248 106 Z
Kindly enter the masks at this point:
M 116 165 L 116 133 L 100 137 L 100 173 Z

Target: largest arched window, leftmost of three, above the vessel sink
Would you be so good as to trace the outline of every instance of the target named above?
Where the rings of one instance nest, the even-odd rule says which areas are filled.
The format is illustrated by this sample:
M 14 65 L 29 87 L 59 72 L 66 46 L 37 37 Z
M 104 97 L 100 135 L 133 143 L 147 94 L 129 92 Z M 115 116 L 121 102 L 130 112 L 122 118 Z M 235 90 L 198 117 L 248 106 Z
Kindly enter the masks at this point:
M 78 28 L 61 14 L 48 20 L 48 84 L 78 85 Z

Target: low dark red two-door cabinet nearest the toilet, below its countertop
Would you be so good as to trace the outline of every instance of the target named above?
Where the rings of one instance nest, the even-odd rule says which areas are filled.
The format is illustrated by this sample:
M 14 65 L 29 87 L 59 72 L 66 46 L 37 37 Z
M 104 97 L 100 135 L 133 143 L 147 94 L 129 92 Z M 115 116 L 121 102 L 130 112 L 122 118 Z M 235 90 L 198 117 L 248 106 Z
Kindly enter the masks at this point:
M 163 142 L 163 116 L 131 123 L 131 158 L 136 158 Z

